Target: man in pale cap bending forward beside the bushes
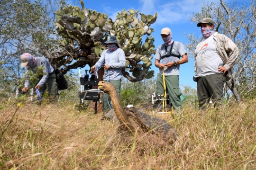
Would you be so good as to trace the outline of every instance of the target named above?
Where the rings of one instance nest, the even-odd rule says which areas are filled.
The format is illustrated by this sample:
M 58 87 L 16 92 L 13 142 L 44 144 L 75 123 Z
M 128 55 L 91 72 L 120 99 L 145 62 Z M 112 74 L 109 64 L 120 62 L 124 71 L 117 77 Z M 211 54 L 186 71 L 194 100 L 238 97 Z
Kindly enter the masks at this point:
M 20 56 L 21 59 L 21 67 L 25 67 L 25 73 L 28 73 L 31 69 L 32 72 L 37 72 L 37 67 L 42 65 L 45 67 L 43 76 L 39 77 L 39 80 L 36 84 L 36 89 L 40 91 L 41 96 L 43 97 L 44 92 L 47 90 L 48 97 L 50 102 L 55 102 L 56 95 L 58 95 L 58 86 L 55 80 L 55 72 L 54 68 L 51 64 L 46 60 L 45 57 L 34 57 L 29 53 L 24 53 Z M 26 75 L 25 87 L 22 89 L 23 92 L 29 88 L 30 81 L 28 80 L 29 76 Z

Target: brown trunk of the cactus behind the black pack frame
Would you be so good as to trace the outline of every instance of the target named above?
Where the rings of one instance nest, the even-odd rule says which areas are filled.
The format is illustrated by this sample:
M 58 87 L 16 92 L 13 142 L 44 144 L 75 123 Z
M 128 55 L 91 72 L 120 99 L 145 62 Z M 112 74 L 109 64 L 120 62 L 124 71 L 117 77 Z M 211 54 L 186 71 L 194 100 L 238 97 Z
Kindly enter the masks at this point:
M 103 75 L 104 75 L 104 67 L 102 67 L 100 70 L 98 70 L 98 77 L 99 77 L 99 81 L 103 81 Z M 98 86 L 92 86 L 92 89 L 98 89 Z M 99 101 L 95 102 L 95 101 L 91 101 L 90 103 L 90 107 L 89 107 L 89 112 L 90 113 L 101 113 L 103 111 L 103 96 L 101 93 L 101 103 Z

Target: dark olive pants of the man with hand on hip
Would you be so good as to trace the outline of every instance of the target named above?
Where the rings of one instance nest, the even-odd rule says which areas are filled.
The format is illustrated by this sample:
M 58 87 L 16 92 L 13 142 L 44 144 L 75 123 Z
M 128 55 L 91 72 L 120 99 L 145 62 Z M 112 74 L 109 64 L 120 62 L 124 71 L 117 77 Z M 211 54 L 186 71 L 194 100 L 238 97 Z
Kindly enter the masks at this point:
M 209 107 L 210 100 L 214 106 L 221 103 L 225 79 L 223 74 L 210 74 L 197 78 L 197 97 L 200 109 Z

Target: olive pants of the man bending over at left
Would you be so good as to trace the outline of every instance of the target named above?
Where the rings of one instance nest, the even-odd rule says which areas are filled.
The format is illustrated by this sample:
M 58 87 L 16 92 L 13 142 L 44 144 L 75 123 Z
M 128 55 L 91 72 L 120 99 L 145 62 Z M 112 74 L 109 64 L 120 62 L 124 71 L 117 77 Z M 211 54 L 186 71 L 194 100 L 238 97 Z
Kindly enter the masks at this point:
M 39 81 L 40 80 L 41 80 L 41 78 L 39 79 Z M 49 74 L 49 77 L 46 80 L 45 84 L 42 87 L 40 87 L 39 92 L 42 97 L 43 97 L 45 91 L 48 93 L 48 98 L 49 98 L 50 102 L 55 102 L 56 96 L 58 95 L 58 91 L 59 91 L 58 85 L 56 83 L 55 72 Z

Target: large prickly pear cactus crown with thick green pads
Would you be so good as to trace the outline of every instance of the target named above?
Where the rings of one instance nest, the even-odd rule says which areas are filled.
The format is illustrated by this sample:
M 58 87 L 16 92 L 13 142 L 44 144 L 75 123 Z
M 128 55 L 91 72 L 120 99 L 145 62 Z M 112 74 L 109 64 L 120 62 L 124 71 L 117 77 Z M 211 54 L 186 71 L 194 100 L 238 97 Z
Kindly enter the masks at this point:
M 61 6 L 54 12 L 55 28 L 62 37 L 62 50 L 53 54 L 50 62 L 57 67 L 69 63 L 64 73 L 86 64 L 91 66 L 107 49 L 104 44 L 106 36 L 114 35 L 126 55 L 126 69 L 123 69 L 123 75 L 132 82 L 152 78 L 154 71 L 150 71 L 150 66 L 152 54 L 156 51 L 155 39 L 151 36 L 154 30 L 150 26 L 156 21 L 157 13 L 146 15 L 138 13 L 138 10 L 123 9 L 118 12 L 116 18 L 108 18 L 107 14 L 87 9 L 82 0 L 80 3 L 81 7 Z M 146 37 L 143 38 L 144 36 Z M 143 39 L 146 40 L 143 42 Z

